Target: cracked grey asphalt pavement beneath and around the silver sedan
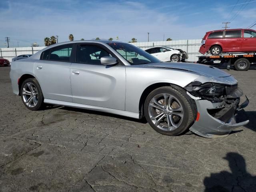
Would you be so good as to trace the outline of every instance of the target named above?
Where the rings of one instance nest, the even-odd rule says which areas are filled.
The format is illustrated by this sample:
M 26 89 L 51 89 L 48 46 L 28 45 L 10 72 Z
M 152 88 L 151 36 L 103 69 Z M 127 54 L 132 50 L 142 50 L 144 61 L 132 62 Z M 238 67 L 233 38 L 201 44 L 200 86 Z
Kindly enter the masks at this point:
M 228 71 L 250 100 L 239 113 L 250 123 L 215 139 L 76 108 L 30 111 L 9 72 L 0 68 L 0 192 L 256 191 L 255 70 Z

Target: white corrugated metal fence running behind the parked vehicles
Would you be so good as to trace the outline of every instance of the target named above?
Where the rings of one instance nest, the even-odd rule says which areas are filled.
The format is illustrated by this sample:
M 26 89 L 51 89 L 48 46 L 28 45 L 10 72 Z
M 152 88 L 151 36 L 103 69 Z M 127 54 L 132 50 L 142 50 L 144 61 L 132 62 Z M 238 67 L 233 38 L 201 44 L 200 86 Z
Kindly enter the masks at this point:
M 175 40 L 175 41 L 155 41 L 155 42 L 137 42 L 131 43 L 137 47 L 145 50 L 146 48 L 154 46 L 170 46 L 176 49 L 182 49 L 188 53 L 188 61 L 197 61 L 197 56 L 200 56 L 198 52 L 201 46 L 201 39 L 191 40 Z M 0 56 L 8 59 L 10 62 L 12 58 L 22 54 L 35 54 L 39 50 L 45 47 L 16 47 L 16 48 L 0 48 Z

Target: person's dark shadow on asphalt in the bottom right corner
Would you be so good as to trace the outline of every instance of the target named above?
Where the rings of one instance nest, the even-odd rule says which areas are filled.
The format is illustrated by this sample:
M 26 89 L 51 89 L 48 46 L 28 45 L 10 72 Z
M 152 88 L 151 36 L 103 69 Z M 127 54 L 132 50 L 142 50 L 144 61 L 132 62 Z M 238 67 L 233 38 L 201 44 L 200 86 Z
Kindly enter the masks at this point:
M 247 172 L 244 157 L 229 152 L 224 159 L 228 161 L 231 172 L 225 170 L 204 178 L 204 192 L 255 192 L 256 176 Z

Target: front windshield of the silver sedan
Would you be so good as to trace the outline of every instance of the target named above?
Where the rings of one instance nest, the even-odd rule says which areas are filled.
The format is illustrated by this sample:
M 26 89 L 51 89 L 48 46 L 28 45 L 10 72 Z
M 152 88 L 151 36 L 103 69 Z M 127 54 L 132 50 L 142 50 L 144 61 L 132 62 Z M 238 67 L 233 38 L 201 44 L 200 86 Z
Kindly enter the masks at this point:
M 128 44 L 128 43 L 107 43 L 114 50 L 116 50 L 123 58 L 125 58 L 131 65 L 140 65 L 148 63 L 161 62 L 154 56 L 150 55 L 146 51 Z

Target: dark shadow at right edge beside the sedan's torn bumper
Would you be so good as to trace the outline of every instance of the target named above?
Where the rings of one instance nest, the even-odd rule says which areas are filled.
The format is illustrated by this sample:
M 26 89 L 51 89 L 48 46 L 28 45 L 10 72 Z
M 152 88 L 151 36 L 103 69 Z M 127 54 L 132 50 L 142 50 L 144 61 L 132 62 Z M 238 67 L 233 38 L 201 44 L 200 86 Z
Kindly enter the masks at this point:
M 249 123 L 244 127 L 253 130 L 256 132 L 256 111 L 245 111 L 244 109 L 238 111 L 236 115 L 236 122 L 242 122 L 245 120 L 249 120 Z M 256 189 L 255 189 L 256 191 Z

